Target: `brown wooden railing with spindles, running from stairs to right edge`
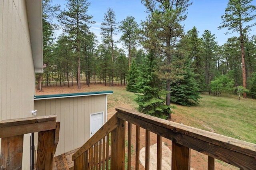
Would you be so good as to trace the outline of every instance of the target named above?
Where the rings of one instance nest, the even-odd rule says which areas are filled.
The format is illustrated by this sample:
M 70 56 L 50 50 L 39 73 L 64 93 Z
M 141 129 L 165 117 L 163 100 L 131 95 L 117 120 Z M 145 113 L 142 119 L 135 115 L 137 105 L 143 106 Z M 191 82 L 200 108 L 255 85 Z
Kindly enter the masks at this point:
M 215 169 L 215 159 L 244 170 L 256 169 L 256 144 L 188 127 L 142 113 L 118 108 L 117 113 L 73 156 L 74 169 L 101 169 L 88 161 L 88 150 L 111 132 L 111 169 L 124 169 L 125 121 L 128 121 L 128 170 L 131 169 L 132 124 L 136 125 L 135 169 L 139 169 L 140 128 L 146 129 L 145 169 L 149 169 L 150 132 L 157 134 L 157 169 L 162 166 L 162 137 L 172 140 L 172 170 L 190 170 L 190 149 L 208 155 L 208 170 Z M 90 157 L 92 159 L 92 155 Z M 95 161 L 94 161 L 95 162 Z M 108 167 L 107 167 L 108 168 Z M 106 169 L 107 169 L 106 168 Z M 103 168 L 104 169 L 104 168 Z

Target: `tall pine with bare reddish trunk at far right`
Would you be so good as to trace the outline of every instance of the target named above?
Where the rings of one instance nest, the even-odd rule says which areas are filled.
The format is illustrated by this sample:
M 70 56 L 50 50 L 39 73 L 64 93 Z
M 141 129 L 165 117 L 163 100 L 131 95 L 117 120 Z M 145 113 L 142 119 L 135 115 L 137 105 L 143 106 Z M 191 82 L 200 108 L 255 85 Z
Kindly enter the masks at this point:
M 232 34 L 238 32 L 240 34 L 240 47 L 242 54 L 242 73 L 243 73 L 243 87 L 246 88 L 246 65 L 245 65 L 245 55 L 244 55 L 244 32 L 250 31 L 250 28 L 256 25 L 248 24 L 250 21 L 256 18 L 256 6 L 250 4 L 252 0 L 229 0 L 228 6 L 225 10 L 225 14 L 221 16 L 222 25 L 218 27 L 228 28 L 231 32 L 226 34 Z M 246 98 L 246 93 L 244 93 L 244 98 Z

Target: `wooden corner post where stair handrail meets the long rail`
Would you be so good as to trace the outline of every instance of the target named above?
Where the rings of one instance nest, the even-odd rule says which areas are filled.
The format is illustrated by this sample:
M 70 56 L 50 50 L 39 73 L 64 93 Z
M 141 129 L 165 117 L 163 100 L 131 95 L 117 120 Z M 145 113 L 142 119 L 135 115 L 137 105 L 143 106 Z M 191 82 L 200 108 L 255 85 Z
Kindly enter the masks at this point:
M 125 121 L 118 119 L 118 127 L 111 132 L 111 169 L 124 170 Z

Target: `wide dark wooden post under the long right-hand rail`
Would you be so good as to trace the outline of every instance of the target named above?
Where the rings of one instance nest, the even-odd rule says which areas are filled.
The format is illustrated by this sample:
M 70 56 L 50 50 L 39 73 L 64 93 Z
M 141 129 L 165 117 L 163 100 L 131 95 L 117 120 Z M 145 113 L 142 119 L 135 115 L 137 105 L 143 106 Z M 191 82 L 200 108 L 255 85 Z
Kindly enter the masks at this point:
M 190 148 L 172 141 L 172 170 L 190 170 Z

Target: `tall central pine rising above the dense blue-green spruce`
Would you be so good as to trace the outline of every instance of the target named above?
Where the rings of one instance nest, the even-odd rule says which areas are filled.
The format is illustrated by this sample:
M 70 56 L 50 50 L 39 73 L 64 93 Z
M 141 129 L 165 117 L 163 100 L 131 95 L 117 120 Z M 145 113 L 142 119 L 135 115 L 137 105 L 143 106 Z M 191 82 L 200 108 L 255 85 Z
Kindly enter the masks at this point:
M 172 54 L 183 34 L 181 22 L 186 20 L 186 10 L 192 3 L 189 0 L 142 0 L 149 13 L 146 22 L 142 22 L 143 29 L 148 29 L 148 43 L 158 48 L 165 57 L 166 65 L 162 67 L 162 77 L 166 80 L 166 105 L 170 106 L 170 81 Z M 155 40 L 153 40 L 155 39 Z M 152 41 L 153 40 L 153 41 Z M 152 44 L 152 42 L 154 44 Z M 144 44 L 145 47 L 145 44 Z M 148 46 L 150 47 L 150 46 Z

